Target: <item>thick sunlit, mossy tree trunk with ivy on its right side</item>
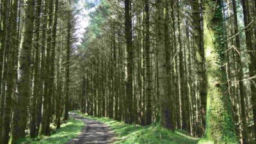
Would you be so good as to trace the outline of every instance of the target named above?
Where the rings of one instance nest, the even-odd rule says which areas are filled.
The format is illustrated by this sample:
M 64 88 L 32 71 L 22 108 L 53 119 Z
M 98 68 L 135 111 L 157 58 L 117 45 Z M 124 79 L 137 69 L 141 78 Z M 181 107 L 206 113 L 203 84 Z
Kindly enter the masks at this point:
M 222 1 L 204 0 L 204 8 L 204 46 L 208 80 L 205 136 L 214 143 L 238 143 L 231 102 L 227 95 Z

